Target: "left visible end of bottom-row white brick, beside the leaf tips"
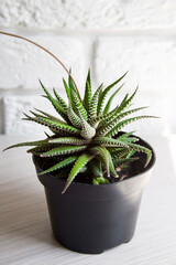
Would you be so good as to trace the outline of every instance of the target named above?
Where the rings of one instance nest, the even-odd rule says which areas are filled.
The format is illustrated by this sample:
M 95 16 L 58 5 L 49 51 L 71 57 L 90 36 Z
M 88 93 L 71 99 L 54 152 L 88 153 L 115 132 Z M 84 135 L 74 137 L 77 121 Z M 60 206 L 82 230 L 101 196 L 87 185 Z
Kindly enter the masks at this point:
M 33 116 L 30 114 L 30 110 L 34 110 L 34 107 L 58 117 L 50 102 L 41 96 L 6 96 L 3 98 L 4 134 L 41 135 L 43 131 L 50 131 L 45 126 L 33 121 L 21 120 L 21 118 L 24 118 L 23 113 Z

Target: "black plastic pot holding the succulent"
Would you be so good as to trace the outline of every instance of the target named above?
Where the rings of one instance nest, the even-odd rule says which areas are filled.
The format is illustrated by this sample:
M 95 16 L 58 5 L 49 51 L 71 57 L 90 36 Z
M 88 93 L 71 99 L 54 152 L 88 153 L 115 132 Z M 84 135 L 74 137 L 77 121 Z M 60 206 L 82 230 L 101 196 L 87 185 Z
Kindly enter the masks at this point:
M 140 140 L 150 149 L 151 146 Z M 145 155 L 141 161 L 144 163 Z M 33 156 L 36 172 L 41 158 Z M 139 206 L 155 156 L 142 173 L 111 184 L 73 182 L 62 194 L 65 180 L 52 174 L 38 176 L 45 187 L 51 223 L 55 239 L 69 250 L 98 254 L 129 242 L 134 234 Z M 135 161 L 135 163 L 139 161 Z

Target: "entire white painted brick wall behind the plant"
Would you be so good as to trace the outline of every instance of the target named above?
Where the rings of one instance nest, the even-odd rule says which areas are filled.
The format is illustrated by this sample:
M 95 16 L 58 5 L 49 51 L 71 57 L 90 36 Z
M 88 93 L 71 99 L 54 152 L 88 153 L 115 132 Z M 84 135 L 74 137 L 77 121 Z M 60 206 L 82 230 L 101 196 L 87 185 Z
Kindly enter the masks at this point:
M 170 0 L 0 0 L 0 30 L 26 36 L 58 56 L 80 93 L 87 68 L 94 86 L 129 70 L 127 91 L 139 84 L 135 104 L 150 105 L 160 120 L 136 123 L 139 132 L 176 132 L 176 1 Z M 0 132 L 41 134 L 21 121 L 33 107 L 51 110 L 38 78 L 64 95 L 64 70 L 48 54 L 21 40 L 0 35 Z M 52 112 L 52 110 L 51 110 Z

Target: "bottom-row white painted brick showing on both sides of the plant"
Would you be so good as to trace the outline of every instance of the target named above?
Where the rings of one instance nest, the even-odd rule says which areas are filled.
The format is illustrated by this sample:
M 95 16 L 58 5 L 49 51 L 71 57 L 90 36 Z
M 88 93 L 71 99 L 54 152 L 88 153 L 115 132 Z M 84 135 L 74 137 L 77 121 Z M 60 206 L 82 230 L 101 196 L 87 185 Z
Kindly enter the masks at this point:
M 112 108 L 120 103 L 124 93 L 119 93 L 117 100 L 113 102 Z M 65 99 L 65 94 L 61 94 Z M 150 109 L 142 110 L 136 115 L 147 114 L 161 116 L 162 119 L 144 119 L 127 126 L 127 131 L 136 130 L 138 135 L 166 135 L 168 132 L 176 132 L 176 123 L 174 121 L 174 114 L 176 107 L 170 112 L 170 106 L 174 107 L 174 98 L 168 102 L 163 97 L 158 100 L 158 95 L 141 94 L 136 95 L 134 107 L 151 106 Z M 37 107 L 44 112 L 57 116 L 51 104 L 40 96 L 6 96 L 3 98 L 4 107 L 4 134 L 7 135 L 42 135 L 43 131 L 48 131 L 46 127 L 37 125 L 32 121 L 21 120 L 23 113 L 30 114 L 30 110 Z

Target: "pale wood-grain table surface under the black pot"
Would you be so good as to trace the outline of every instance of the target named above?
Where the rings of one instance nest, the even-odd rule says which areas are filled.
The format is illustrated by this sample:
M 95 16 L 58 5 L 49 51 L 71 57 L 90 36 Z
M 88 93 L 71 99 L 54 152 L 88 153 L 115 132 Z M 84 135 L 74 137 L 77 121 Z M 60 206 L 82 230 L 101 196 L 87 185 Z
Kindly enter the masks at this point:
M 34 137 L 0 136 L 0 150 Z M 36 139 L 36 138 L 35 138 Z M 146 138 L 145 138 L 146 139 Z M 42 184 L 25 148 L 0 153 L 1 265 L 176 265 L 174 137 L 147 137 L 157 162 L 144 190 L 133 240 L 100 255 L 68 251 L 52 236 Z

